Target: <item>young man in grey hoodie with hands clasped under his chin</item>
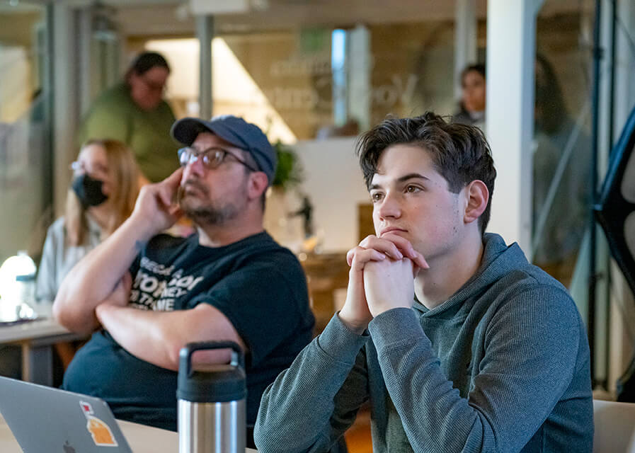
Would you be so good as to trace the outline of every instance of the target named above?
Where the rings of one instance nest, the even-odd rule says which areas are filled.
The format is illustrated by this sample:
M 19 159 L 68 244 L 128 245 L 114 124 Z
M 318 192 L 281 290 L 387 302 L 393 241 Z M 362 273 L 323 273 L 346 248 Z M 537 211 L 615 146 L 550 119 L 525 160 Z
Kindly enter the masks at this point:
M 482 132 L 425 113 L 357 151 L 377 235 L 348 253 L 343 309 L 263 394 L 258 449 L 326 452 L 370 401 L 376 453 L 591 452 L 585 327 L 559 282 L 484 233 Z

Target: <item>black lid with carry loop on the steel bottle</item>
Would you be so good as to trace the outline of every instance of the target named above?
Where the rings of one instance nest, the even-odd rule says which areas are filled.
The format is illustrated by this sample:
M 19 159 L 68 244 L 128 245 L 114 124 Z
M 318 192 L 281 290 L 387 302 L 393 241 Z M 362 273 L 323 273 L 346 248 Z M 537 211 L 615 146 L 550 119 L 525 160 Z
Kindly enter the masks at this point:
M 193 367 L 197 350 L 231 348 L 231 363 Z M 224 403 L 246 398 L 243 352 L 233 342 L 188 343 L 181 349 L 176 397 L 196 403 Z

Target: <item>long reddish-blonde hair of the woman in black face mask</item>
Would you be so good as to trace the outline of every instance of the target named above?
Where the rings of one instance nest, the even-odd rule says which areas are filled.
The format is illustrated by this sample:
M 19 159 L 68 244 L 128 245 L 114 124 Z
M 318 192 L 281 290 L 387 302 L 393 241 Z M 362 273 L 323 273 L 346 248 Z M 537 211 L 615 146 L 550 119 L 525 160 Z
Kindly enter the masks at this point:
M 135 201 L 139 195 L 139 168 L 135 162 L 132 151 L 119 140 L 91 139 L 84 143 L 79 150 L 91 145 L 103 148 L 108 160 L 108 172 L 113 181 L 113 193 L 108 195 L 108 204 L 112 213 L 108 224 L 102 230 L 102 239 L 118 229 L 118 227 L 130 217 L 135 208 Z M 79 198 L 72 189 L 69 189 L 66 199 L 66 212 L 64 214 L 64 226 L 67 238 L 71 246 L 79 246 L 86 241 L 88 233 L 88 219 L 86 209 L 81 205 Z

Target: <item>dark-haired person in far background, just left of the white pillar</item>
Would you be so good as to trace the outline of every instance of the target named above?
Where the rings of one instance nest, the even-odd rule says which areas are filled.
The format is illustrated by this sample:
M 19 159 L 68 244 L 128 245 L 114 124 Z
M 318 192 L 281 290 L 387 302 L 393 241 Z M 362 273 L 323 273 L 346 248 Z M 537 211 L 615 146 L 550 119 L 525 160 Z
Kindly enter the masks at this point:
M 485 128 L 485 65 L 471 64 L 461 72 L 462 96 L 452 122 Z

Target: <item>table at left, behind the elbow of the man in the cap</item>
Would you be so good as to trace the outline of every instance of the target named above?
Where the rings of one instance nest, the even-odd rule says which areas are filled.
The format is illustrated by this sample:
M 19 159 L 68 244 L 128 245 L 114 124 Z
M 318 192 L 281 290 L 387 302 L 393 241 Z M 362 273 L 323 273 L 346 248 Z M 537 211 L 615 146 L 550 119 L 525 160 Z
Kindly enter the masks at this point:
M 22 348 L 22 380 L 52 386 L 52 345 L 84 338 L 60 326 L 51 316 L 51 303 L 33 304 L 40 319 L 0 327 L 0 344 Z

